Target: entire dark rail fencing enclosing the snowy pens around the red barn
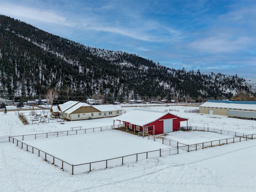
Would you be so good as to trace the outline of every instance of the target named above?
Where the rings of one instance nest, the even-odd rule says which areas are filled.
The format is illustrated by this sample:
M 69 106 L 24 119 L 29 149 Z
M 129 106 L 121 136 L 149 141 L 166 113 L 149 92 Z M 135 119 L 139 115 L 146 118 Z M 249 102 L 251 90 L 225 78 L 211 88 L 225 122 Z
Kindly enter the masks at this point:
M 111 130 L 113 128 L 115 128 L 115 127 L 106 126 L 106 127 L 99 127 L 99 128 L 77 129 L 77 130 L 69 130 L 69 131 L 62 131 L 62 132 L 50 132 L 50 133 L 43 133 L 43 134 L 31 134 L 31 135 L 22 135 L 22 136 L 13 136 L 13 137 L 5 136 L 2 138 L 4 140 L 6 140 L 6 138 L 8 138 L 9 142 L 16 144 L 23 150 L 30 151 L 30 152 L 36 154 L 37 156 L 42 157 L 43 159 L 47 160 L 48 162 L 51 162 L 52 164 L 60 167 L 61 169 L 70 172 L 72 175 L 78 174 L 78 173 L 83 173 L 83 172 L 88 172 L 88 171 L 92 171 L 92 170 L 96 170 L 96 169 L 104 169 L 104 168 L 108 168 L 111 166 L 118 166 L 118 165 L 122 165 L 122 164 L 125 164 L 128 162 L 136 162 L 136 161 L 144 160 L 144 159 L 148 159 L 148 158 L 174 155 L 174 154 L 178 154 L 180 150 L 190 152 L 193 150 L 204 149 L 207 147 L 220 146 L 220 145 L 224 145 L 224 144 L 241 142 L 244 140 L 256 138 L 256 134 L 242 134 L 242 133 L 230 132 L 230 131 L 226 131 L 226 130 L 224 131 L 224 130 L 218 130 L 218 129 L 196 127 L 196 128 L 193 128 L 193 130 L 211 131 L 211 132 L 217 132 L 217 133 L 219 133 L 221 131 L 220 132 L 221 134 L 234 134 L 235 137 L 221 139 L 221 140 L 214 140 L 214 141 L 210 141 L 210 142 L 202 142 L 202 143 L 192 144 L 192 145 L 182 144 L 182 143 L 176 142 L 174 140 L 163 138 L 162 143 L 168 144 L 169 146 L 172 146 L 172 148 L 166 148 L 166 149 L 160 148 L 159 150 L 141 152 L 141 153 L 121 156 L 121 157 L 117 157 L 117 158 L 112 158 L 112 159 L 108 159 L 108 160 L 101 160 L 101 161 L 89 162 L 89 163 L 78 164 L 78 165 L 74 165 L 74 164 L 71 164 L 64 160 L 61 160 L 60 158 L 57 158 L 51 154 L 48 154 L 47 152 L 44 152 L 38 148 L 35 148 L 35 147 L 30 146 L 23 142 L 24 139 L 30 139 L 30 138 L 37 139 L 37 138 L 48 138 L 48 137 L 63 136 L 63 135 L 82 134 L 82 133 L 86 133 L 86 132 Z M 138 133 L 139 136 L 140 136 L 140 134 L 142 134 L 142 133 Z M 152 139 L 154 141 L 156 140 L 155 136 L 145 134 L 145 133 L 144 133 L 144 136 L 148 137 L 148 139 Z M 0 137 L 0 140 L 1 140 L 1 137 Z

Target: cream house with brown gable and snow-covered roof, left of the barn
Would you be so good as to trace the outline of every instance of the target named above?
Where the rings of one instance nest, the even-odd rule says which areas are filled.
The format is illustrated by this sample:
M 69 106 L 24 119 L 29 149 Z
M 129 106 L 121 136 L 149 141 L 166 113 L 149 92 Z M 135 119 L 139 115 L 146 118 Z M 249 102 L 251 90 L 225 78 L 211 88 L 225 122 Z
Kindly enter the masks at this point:
M 122 108 L 114 105 L 89 105 L 83 102 L 68 101 L 58 107 L 52 107 L 52 118 L 58 117 L 70 121 L 114 117 L 122 114 Z

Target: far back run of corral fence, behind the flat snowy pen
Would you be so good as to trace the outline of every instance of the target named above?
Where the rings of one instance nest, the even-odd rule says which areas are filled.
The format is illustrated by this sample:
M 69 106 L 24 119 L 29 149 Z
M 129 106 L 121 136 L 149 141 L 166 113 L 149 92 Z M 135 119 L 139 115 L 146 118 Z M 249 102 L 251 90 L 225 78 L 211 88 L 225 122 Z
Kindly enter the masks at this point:
M 80 128 L 80 129 L 78 129 L 78 128 Z M 50 138 L 50 137 L 92 133 L 92 132 L 98 132 L 98 131 L 107 131 L 107 130 L 112 130 L 114 128 L 119 128 L 119 125 L 103 126 L 103 127 L 87 128 L 87 129 L 81 129 L 81 127 L 72 127 L 72 130 L 67 130 L 67 131 L 38 133 L 38 134 L 29 134 L 29 135 L 18 135 L 18 136 L 10 136 L 10 138 L 16 138 L 18 140 L 23 141 L 23 140 L 29 140 L 29 139 Z

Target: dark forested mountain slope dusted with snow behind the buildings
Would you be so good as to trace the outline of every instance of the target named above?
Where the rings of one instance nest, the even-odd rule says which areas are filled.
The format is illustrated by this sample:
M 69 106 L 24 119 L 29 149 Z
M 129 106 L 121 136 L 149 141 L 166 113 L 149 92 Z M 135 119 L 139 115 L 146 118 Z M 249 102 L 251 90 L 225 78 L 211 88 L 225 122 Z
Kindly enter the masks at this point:
M 84 100 L 226 97 L 250 92 L 237 75 L 201 74 L 156 64 L 135 54 L 92 48 L 0 16 L 0 97 L 33 97 L 55 88 Z M 255 94 L 255 93 L 251 93 Z

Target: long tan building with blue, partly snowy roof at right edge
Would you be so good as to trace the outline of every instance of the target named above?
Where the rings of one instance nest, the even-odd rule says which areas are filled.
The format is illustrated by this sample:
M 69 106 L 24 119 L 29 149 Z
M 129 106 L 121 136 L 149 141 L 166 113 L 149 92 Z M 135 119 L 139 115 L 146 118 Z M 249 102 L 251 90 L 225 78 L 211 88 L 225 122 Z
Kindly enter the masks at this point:
M 208 100 L 199 107 L 199 112 L 212 115 L 228 115 L 230 111 L 256 112 L 256 102 L 253 101 L 229 101 L 229 100 Z M 233 112 L 234 113 L 234 112 Z

